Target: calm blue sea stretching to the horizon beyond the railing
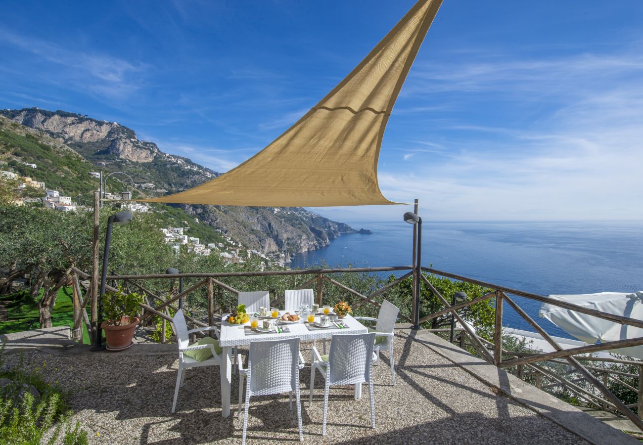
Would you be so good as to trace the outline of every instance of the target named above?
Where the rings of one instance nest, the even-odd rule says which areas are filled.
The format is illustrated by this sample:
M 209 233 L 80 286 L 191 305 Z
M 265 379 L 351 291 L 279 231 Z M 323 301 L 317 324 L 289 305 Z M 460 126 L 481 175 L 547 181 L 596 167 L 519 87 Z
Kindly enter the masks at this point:
M 404 221 L 345 221 L 372 235 L 343 235 L 331 246 L 296 255 L 291 267 L 402 266 L 412 262 L 412 226 Z M 422 264 L 540 295 L 643 289 L 643 222 L 424 222 Z M 540 304 L 514 297 L 547 332 Z M 505 305 L 503 325 L 533 331 Z

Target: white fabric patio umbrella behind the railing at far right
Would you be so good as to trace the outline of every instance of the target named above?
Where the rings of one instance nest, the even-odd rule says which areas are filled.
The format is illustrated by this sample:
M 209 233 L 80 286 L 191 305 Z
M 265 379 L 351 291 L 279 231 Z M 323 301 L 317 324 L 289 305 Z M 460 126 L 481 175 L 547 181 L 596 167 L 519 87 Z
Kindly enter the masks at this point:
M 554 300 L 595 309 L 604 313 L 643 320 L 643 291 L 636 293 L 601 292 L 581 295 L 550 295 Z M 545 303 L 539 316 L 586 343 L 606 343 L 643 337 L 643 329 L 621 325 L 588 314 Z M 613 352 L 643 359 L 643 346 L 614 349 Z

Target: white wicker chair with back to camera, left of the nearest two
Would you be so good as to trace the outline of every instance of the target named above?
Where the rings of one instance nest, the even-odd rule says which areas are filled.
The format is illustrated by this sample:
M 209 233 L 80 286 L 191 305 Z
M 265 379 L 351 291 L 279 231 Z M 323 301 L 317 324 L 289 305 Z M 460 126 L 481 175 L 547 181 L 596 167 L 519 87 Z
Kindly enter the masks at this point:
M 275 341 L 251 341 L 248 356 L 248 369 L 241 366 L 241 354 L 237 358 L 239 364 L 239 410 L 243 395 L 244 380 L 246 385 L 246 406 L 243 418 L 243 439 L 246 443 L 248 428 L 248 409 L 250 397 L 253 395 L 281 394 L 289 392 L 290 409 L 293 409 L 293 391 L 296 395 L 297 422 L 299 423 L 299 440 L 303 441 L 302 431 L 302 401 L 299 391 L 299 370 L 301 354 L 299 338 Z

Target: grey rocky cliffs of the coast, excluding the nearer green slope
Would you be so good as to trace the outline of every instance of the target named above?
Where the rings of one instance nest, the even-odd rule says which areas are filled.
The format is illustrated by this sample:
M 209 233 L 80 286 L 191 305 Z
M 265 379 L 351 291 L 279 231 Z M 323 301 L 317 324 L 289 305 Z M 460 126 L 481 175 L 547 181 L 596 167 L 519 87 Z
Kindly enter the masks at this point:
M 37 108 L 3 110 L 0 114 L 45 132 L 96 165 L 96 170 L 125 172 L 139 185 L 139 196 L 180 192 L 217 176 L 188 158 L 167 154 L 156 144 L 116 122 L 66 111 Z M 151 185 L 151 186 L 149 186 Z M 303 208 L 181 205 L 186 212 L 227 233 L 244 247 L 287 255 L 329 246 L 333 239 L 357 231 Z

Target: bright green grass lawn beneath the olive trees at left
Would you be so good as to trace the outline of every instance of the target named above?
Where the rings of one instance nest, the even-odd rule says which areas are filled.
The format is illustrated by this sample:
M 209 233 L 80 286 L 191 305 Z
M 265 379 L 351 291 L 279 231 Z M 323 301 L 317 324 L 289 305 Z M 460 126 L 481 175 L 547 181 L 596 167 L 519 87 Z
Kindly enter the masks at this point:
M 41 291 L 42 296 L 42 291 Z M 29 331 L 40 327 L 38 304 L 27 291 L 0 296 L 0 300 L 10 301 L 6 306 L 7 322 L 0 322 L 0 334 Z M 74 310 L 71 302 L 71 287 L 62 287 L 58 291 L 56 304 L 51 311 L 53 326 L 69 326 L 73 329 Z M 82 323 L 83 343 L 89 344 L 89 334 L 85 323 Z

